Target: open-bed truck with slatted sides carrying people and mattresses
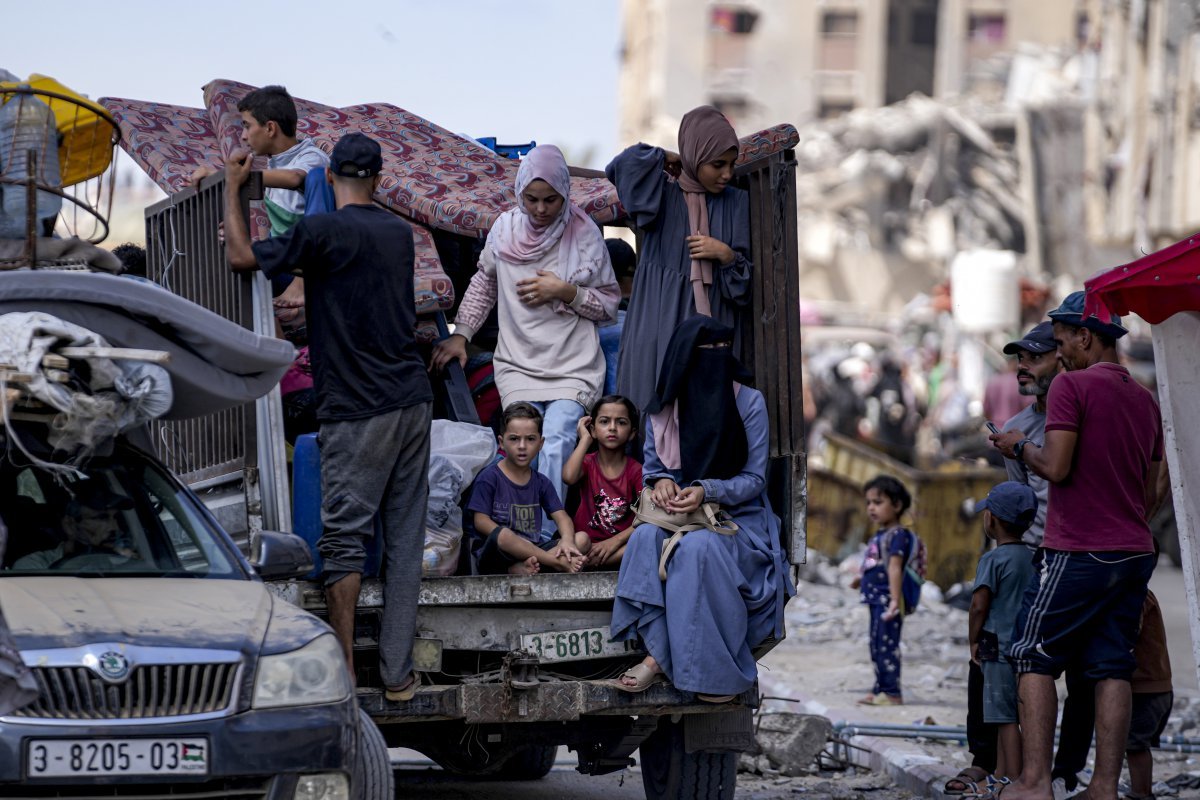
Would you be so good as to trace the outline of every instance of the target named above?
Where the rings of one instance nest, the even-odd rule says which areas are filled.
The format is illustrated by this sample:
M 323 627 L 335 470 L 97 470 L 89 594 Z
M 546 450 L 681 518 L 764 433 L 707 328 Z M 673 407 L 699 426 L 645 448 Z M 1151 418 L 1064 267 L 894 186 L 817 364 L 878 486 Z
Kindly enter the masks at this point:
M 110 104 L 118 103 L 130 107 L 130 101 Z M 788 149 L 794 130 L 780 126 L 775 133 L 762 148 L 749 149 L 734 178 L 751 198 L 756 270 L 743 360 L 767 398 L 769 492 L 784 522 L 786 554 L 799 564 L 805 553 L 805 462 L 794 157 Z M 602 179 L 588 170 L 572 174 L 595 185 Z M 180 294 L 246 327 L 269 332 L 274 319 L 265 281 L 230 275 L 216 239 L 223 218 L 222 180 L 212 175 L 146 209 L 149 277 L 168 281 Z M 241 197 L 246 212 L 258 192 L 252 175 Z M 626 223 L 618 216 L 611 224 Z M 437 233 L 443 255 L 469 253 L 478 241 L 462 233 Z M 418 249 L 420 260 L 420 242 Z M 425 318 L 444 335 L 442 314 L 438 308 Z M 456 367 L 438 387 L 438 413 L 478 422 Z M 277 393 L 236 414 L 161 427 L 156 435 L 172 451 L 164 453 L 168 463 L 244 547 L 253 546 L 263 530 L 292 529 L 293 485 Z M 294 477 L 299 486 L 300 476 Z M 460 774 L 541 777 L 557 748 L 566 745 L 578 756 L 577 769 L 590 775 L 623 770 L 640 752 L 647 798 L 733 796 L 737 752 L 752 739 L 756 691 L 713 706 L 666 685 L 638 696 L 616 690 L 612 679 L 642 657 L 634 648 L 608 642 L 616 582 L 614 572 L 424 579 L 414 649 L 422 686 L 412 702 L 391 703 L 377 669 L 382 587 L 367 577 L 355 633 L 360 706 L 389 746 L 419 750 Z M 305 610 L 325 613 L 318 583 L 271 581 L 270 589 Z M 775 644 L 762 643 L 757 655 Z

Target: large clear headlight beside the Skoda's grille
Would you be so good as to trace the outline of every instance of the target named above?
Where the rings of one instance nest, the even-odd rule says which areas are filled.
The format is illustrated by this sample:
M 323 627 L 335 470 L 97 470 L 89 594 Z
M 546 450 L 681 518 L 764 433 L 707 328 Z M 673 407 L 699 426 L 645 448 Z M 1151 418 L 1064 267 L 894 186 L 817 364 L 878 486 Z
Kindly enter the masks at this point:
M 256 709 L 336 703 L 350 693 L 346 654 L 332 634 L 319 636 L 299 650 L 263 656 L 254 678 Z

